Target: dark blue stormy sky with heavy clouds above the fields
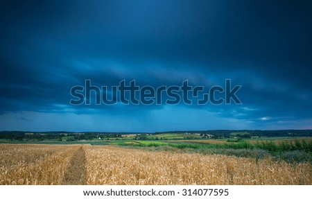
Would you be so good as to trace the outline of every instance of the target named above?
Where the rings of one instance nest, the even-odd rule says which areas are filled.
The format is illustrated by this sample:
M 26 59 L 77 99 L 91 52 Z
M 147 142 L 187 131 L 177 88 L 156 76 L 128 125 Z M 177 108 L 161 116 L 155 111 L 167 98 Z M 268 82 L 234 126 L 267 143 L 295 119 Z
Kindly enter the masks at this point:
M 312 129 L 311 8 L 312 1 L 1 1 L 0 130 Z M 69 103 L 85 80 L 154 88 L 188 80 L 209 90 L 226 79 L 241 85 L 241 104 Z

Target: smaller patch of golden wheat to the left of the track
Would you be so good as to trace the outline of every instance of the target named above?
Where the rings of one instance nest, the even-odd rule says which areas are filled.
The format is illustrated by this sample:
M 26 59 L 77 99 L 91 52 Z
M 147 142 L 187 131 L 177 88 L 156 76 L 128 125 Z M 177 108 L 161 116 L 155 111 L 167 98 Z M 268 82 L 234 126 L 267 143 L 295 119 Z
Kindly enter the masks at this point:
M 0 145 L 0 184 L 62 184 L 78 146 Z

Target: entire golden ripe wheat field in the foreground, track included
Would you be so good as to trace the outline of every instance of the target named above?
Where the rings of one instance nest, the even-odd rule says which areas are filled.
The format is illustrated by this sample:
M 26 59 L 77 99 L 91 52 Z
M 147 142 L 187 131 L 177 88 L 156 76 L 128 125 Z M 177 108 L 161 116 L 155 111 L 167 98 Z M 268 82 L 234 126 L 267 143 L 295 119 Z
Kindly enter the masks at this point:
M 312 184 L 311 162 L 177 148 L 0 144 L 0 184 Z

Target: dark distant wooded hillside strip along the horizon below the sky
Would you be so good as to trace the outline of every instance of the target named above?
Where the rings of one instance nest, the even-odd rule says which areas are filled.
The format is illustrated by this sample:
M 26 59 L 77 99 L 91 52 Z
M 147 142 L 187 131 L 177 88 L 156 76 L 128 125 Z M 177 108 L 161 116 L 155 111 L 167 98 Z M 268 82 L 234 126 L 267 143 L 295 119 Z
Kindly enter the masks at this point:
M 207 138 L 213 137 L 229 138 L 252 138 L 252 137 L 312 137 L 312 130 L 194 130 L 194 131 L 166 131 L 166 132 L 155 132 L 155 133 L 142 133 L 142 132 L 64 132 L 64 131 L 52 131 L 52 132 L 28 132 L 28 131 L 1 131 L 0 139 L 10 140 L 46 140 L 55 139 L 58 141 L 64 141 L 66 137 L 67 141 L 74 140 L 91 140 L 91 139 L 103 139 L 103 138 L 121 138 L 123 135 L 160 135 L 162 137 L 172 137 L 174 135 L 176 139 L 179 138 L 180 134 L 189 135 L 189 138 Z M 167 135 L 164 135 L 167 134 Z M 181 139 L 181 137 L 180 137 Z M 195 139 L 195 138 L 194 138 Z

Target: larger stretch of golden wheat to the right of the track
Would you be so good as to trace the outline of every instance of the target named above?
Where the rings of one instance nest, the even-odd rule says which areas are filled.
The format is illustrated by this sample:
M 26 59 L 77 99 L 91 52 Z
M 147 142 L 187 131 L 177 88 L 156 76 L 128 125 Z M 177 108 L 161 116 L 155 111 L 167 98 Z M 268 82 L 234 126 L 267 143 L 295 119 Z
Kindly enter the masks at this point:
M 311 164 L 92 146 L 87 184 L 312 184 Z

